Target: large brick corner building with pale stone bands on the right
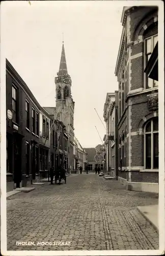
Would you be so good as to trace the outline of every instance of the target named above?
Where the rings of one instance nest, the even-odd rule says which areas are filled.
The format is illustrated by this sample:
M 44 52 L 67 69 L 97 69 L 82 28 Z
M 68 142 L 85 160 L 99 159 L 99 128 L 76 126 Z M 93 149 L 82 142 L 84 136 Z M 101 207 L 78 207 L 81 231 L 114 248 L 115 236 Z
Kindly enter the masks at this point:
M 158 192 L 158 81 L 144 72 L 158 38 L 158 8 L 127 7 L 115 74 L 119 82 L 119 180 Z

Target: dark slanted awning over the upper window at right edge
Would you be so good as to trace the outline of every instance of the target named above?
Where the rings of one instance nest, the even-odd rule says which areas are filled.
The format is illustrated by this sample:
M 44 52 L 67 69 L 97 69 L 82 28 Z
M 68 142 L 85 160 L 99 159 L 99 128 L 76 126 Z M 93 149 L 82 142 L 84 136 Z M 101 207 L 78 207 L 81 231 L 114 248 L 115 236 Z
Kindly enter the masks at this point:
M 158 81 L 158 42 L 144 71 L 149 78 Z

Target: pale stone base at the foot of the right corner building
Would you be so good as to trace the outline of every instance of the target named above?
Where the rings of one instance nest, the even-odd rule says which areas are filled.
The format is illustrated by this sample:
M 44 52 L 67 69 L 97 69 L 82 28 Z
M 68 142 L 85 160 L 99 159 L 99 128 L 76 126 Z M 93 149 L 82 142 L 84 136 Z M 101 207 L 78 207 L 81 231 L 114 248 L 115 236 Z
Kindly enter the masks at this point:
M 127 180 L 121 177 L 118 177 L 118 180 L 121 184 L 126 185 L 127 190 L 159 193 L 158 183 L 128 182 Z

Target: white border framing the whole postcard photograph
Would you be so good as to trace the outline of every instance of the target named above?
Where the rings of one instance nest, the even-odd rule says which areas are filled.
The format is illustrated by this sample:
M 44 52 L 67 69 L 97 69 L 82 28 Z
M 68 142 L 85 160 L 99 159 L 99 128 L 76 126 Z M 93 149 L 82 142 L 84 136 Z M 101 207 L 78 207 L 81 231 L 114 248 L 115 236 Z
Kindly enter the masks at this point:
M 24 1 L 23 1 L 24 2 Z M 33 2 L 37 1 L 32 1 Z M 47 1 L 38 1 L 41 6 L 47 5 Z M 65 1 L 59 1 L 63 6 Z M 79 3 L 87 6 L 91 4 L 99 5 L 107 4 L 107 1 L 74 1 L 75 6 Z M 6 2 L 1 3 L 1 37 L 3 34 L 3 5 Z M 20 1 L 19 1 L 20 3 Z M 28 3 L 28 1 L 27 1 Z M 70 1 L 70 5 L 73 1 Z M 162 1 L 113 1 L 113 4 L 117 6 L 158 6 L 158 56 L 159 56 L 159 250 L 74 250 L 74 251 L 7 251 L 7 226 L 6 226 L 6 54 L 5 44 L 1 39 L 1 95 L 0 95 L 0 107 L 1 107 L 1 251 L 3 255 L 159 255 L 164 251 L 164 35 L 163 35 L 163 2 Z M 121 13 L 122 15 L 122 13 Z M 161 31 L 161 32 L 160 32 Z M 161 36 L 161 38 L 160 38 Z M 160 64 L 161 63 L 161 64 Z M 115 70 L 115 67 L 114 67 Z M 161 80 L 161 82 L 160 82 Z M 3 156 L 3 157 L 2 157 Z M 4 172 L 5 170 L 5 172 Z

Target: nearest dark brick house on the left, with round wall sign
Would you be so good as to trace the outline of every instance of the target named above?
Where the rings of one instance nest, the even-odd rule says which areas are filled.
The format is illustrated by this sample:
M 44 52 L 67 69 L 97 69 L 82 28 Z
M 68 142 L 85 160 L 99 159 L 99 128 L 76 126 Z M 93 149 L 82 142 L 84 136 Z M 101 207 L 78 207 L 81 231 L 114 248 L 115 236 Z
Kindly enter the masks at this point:
M 39 174 L 41 106 L 6 59 L 7 191 Z

